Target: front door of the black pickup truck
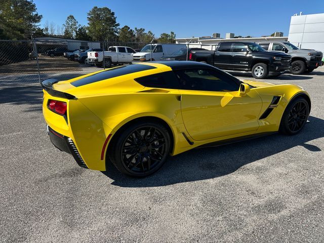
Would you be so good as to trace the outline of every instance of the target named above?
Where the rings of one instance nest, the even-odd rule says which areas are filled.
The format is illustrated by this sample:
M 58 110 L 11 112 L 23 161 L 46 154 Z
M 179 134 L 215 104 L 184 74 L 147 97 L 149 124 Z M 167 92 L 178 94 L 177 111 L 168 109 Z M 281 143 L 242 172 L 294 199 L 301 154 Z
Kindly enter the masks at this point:
M 243 43 L 234 43 L 230 56 L 230 64 L 235 69 L 248 70 L 252 56 L 249 53 L 247 45 Z

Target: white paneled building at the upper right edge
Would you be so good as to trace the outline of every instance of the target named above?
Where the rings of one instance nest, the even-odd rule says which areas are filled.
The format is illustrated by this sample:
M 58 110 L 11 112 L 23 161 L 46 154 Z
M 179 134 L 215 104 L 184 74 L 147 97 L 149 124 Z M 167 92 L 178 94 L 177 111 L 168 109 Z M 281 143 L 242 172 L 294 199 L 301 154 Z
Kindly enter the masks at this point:
M 292 16 L 288 40 L 299 48 L 324 52 L 324 14 Z

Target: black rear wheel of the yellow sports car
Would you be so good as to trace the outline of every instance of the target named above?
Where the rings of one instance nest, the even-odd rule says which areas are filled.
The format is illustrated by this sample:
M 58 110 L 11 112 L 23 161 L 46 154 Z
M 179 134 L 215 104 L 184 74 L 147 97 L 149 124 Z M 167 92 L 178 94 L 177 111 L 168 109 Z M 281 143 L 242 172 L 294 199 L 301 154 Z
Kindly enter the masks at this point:
M 159 170 L 170 152 L 170 135 L 159 123 L 138 121 L 111 142 L 107 155 L 123 174 L 145 177 Z

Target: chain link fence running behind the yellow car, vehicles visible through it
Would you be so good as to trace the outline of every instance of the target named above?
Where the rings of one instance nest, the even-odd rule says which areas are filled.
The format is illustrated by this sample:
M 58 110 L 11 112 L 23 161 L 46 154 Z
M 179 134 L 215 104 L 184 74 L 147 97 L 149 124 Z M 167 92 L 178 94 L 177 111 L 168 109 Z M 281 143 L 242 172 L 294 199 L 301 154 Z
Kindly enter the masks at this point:
M 213 50 L 195 44 L 87 42 L 36 38 L 0 40 L 0 88 L 70 79 L 117 65 L 143 61 L 188 60 L 191 50 Z

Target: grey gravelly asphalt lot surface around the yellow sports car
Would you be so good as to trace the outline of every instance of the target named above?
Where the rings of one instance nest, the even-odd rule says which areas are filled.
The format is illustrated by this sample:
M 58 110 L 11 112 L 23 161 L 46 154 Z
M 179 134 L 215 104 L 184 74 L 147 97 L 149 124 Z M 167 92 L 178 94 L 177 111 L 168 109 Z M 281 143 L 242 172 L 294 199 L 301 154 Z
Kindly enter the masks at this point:
M 79 168 L 45 132 L 41 88 L 0 84 L 0 241 L 324 242 L 324 68 L 264 81 L 310 93 L 300 134 L 193 149 L 144 179 Z

